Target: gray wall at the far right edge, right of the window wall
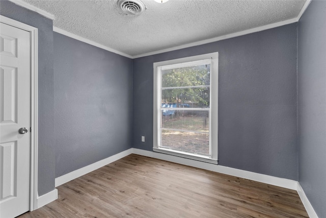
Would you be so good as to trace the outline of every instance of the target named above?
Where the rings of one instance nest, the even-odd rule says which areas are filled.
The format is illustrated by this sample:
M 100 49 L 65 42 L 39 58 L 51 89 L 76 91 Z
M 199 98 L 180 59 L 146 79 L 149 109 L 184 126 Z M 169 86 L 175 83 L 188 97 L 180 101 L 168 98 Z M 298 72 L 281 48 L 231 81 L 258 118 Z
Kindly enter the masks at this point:
M 298 23 L 299 182 L 326 217 L 326 2 L 312 1 Z

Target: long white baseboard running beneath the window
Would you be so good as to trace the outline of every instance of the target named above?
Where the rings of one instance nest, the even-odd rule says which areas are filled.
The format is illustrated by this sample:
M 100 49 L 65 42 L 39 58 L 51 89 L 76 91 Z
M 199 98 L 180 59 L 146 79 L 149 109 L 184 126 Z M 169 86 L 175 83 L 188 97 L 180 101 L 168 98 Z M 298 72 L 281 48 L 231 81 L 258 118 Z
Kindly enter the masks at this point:
M 227 174 L 230 176 L 236 176 L 244 179 L 250 179 L 257 182 L 263 182 L 270 185 L 276 185 L 284 188 L 289 188 L 292 190 L 296 190 L 297 181 L 290 179 L 283 179 L 274 176 L 268 176 L 264 174 L 253 173 L 250 171 L 243 171 L 242 169 L 231 168 L 227 166 L 221 166 L 212 163 L 201 162 L 197 160 L 191 160 L 187 158 L 177 157 L 168 154 L 162 154 L 157 152 L 145 151 L 141 149 L 133 149 L 133 154 L 143 155 L 147 157 L 153 157 L 160 160 L 167 160 L 175 163 L 180 163 L 187 166 L 194 166 L 201 169 L 207 169 L 208 171 L 213 171 L 217 173 Z

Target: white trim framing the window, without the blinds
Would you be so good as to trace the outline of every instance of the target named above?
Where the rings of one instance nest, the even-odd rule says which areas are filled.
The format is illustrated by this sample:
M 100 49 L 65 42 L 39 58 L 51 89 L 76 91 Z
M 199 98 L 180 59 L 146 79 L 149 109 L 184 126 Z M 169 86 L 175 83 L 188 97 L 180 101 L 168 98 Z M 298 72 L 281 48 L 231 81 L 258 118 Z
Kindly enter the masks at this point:
M 211 145 L 212 145 L 212 157 L 207 158 L 203 155 L 195 155 L 195 154 L 188 154 L 185 152 L 170 150 L 170 149 L 164 149 L 158 147 L 158 130 L 160 128 L 160 124 L 158 123 L 158 110 L 160 109 L 161 101 L 158 99 L 158 93 L 161 91 L 161 87 L 158 84 L 158 72 L 157 67 L 164 66 L 164 65 L 170 65 L 170 64 L 178 64 L 178 63 L 184 63 L 184 62 L 190 62 L 190 61 L 198 61 L 203 59 L 212 59 L 211 62 Z M 185 57 L 185 58 L 178 58 L 178 59 L 172 59 L 167 61 L 160 61 L 160 62 L 154 62 L 153 63 L 153 151 L 184 157 L 188 159 L 194 159 L 199 160 L 203 162 L 208 163 L 218 163 L 218 128 L 219 128 L 219 113 L 218 113 L 218 99 L 219 99 L 219 93 L 218 93 L 218 84 L 219 84 L 219 53 L 208 53 L 204 55 L 197 55 L 197 56 L 191 56 L 191 57 Z

